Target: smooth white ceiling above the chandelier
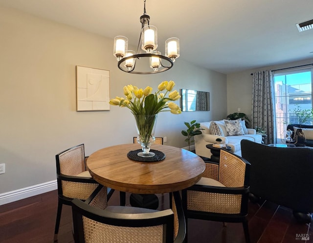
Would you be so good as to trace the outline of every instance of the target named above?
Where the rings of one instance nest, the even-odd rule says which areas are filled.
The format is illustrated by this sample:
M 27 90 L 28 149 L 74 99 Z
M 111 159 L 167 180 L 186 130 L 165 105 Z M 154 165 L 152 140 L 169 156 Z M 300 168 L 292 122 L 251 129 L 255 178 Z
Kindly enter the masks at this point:
M 137 46 L 143 0 L 0 0 L 13 7 L 108 38 L 124 35 Z M 180 57 L 220 73 L 313 58 L 313 0 L 147 0 L 158 50 L 180 39 Z M 113 49 L 113 47 L 112 47 Z M 177 61 L 179 61 L 179 59 Z

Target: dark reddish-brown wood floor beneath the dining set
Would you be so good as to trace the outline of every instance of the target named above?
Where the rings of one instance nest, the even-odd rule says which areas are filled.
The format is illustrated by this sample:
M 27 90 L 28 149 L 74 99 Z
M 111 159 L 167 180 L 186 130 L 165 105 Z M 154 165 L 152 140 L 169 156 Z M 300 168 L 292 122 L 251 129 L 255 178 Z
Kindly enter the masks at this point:
M 159 209 L 166 207 L 168 196 L 159 195 Z M 129 198 L 129 196 L 127 196 Z M 165 202 L 165 203 L 162 203 Z M 114 192 L 110 204 L 118 205 Z M 0 206 L 0 243 L 52 243 L 57 211 L 57 191 L 33 196 Z M 73 243 L 71 209 L 63 206 L 59 243 Z M 299 224 L 290 209 L 270 202 L 249 204 L 248 224 L 251 243 L 313 243 L 311 224 Z M 189 219 L 189 243 L 244 243 L 241 223 Z M 309 241 L 296 239 L 296 234 L 310 234 Z

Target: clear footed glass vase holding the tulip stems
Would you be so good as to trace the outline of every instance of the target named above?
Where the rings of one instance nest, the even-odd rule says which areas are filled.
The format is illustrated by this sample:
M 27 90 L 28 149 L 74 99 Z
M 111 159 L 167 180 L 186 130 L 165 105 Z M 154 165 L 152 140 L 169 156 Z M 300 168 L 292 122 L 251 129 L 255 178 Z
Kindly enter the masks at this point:
M 140 157 L 153 157 L 156 154 L 150 152 L 150 146 L 155 142 L 157 115 L 134 115 L 137 129 L 137 142 L 142 146 L 142 152 L 137 153 Z

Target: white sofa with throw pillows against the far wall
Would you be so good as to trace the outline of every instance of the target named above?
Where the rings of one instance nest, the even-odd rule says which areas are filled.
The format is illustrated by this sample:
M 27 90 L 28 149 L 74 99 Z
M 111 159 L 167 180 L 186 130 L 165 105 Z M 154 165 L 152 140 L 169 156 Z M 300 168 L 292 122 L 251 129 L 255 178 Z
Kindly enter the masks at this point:
M 226 131 L 224 120 L 215 121 L 215 122 L 222 128 L 225 136 L 222 137 L 222 136 L 216 136 L 216 135 L 210 134 L 209 127 L 210 127 L 211 121 L 200 122 L 200 127 L 203 129 L 201 130 L 202 134 L 196 135 L 194 137 L 197 155 L 210 158 L 212 153 L 210 149 L 206 147 L 206 145 L 216 144 L 217 138 L 222 139 L 222 143 L 225 143 L 227 146 L 230 146 L 231 151 L 239 156 L 241 156 L 241 146 L 240 146 L 241 140 L 247 139 L 258 144 L 262 143 L 262 135 L 256 134 L 255 129 L 247 128 L 248 134 L 245 134 L 245 135 L 226 136 L 227 131 Z

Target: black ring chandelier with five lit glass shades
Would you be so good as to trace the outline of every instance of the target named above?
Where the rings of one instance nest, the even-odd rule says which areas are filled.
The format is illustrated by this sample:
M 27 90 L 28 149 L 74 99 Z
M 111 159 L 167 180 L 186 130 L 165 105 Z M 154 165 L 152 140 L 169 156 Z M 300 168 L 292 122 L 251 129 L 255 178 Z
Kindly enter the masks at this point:
M 128 49 L 128 39 L 125 36 L 114 38 L 113 55 L 118 61 L 118 68 L 124 72 L 135 74 L 161 73 L 169 70 L 173 67 L 175 59 L 179 57 L 179 39 L 175 37 L 167 39 L 165 56 L 161 55 L 161 52 L 157 50 L 156 26 L 150 25 L 150 16 L 146 14 L 146 0 L 144 0 L 140 23 L 141 31 L 137 52 Z

